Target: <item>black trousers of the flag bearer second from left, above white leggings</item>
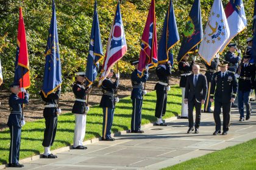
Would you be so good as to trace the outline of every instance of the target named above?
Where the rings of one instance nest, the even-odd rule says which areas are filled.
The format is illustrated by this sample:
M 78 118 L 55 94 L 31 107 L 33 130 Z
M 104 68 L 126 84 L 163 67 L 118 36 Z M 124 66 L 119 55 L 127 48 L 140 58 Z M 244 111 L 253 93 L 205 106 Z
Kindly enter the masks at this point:
M 45 130 L 43 138 L 43 146 L 49 147 L 54 143 L 55 134 L 57 131 L 57 115 L 51 117 L 44 117 L 45 119 Z

